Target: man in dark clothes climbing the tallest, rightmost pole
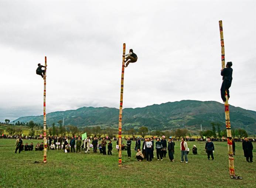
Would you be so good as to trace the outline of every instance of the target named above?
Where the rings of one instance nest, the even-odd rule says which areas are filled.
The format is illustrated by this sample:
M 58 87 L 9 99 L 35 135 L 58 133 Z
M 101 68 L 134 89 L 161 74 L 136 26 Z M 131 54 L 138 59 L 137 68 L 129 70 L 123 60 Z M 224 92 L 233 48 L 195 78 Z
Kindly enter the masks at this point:
M 232 62 L 227 62 L 226 68 L 221 69 L 221 76 L 223 76 L 222 77 L 222 85 L 221 85 L 221 98 L 222 98 L 223 102 L 226 101 L 225 90 L 227 90 L 228 99 L 230 97 L 229 96 L 229 88 L 232 83 L 232 72 L 233 72 L 233 69 L 231 68 L 231 66 L 232 66 Z

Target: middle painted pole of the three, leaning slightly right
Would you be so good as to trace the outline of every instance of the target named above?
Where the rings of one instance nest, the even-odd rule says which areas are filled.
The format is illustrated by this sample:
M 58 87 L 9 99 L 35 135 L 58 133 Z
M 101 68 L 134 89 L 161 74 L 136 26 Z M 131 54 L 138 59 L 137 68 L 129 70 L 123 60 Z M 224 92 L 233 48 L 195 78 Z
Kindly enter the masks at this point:
M 125 55 L 125 43 L 123 44 L 123 55 Z M 120 94 L 120 108 L 119 108 L 119 124 L 118 124 L 118 166 L 122 167 L 122 113 L 123 113 L 123 79 L 124 79 L 124 59 L 122 63 L 121 76 L 121 94 Z

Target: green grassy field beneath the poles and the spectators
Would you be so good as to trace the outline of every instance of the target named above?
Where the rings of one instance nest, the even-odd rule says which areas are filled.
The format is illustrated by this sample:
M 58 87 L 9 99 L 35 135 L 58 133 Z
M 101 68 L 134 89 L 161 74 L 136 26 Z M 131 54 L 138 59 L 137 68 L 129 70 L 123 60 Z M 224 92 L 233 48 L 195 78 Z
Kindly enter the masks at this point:
M 38 140 L 24 140 L 34 146 Z M 41 140 L 39 140 L 41 142 Z M 133 141 L 134 148 L 135 142 Z M 192 155 L 197 145 L 198 155 Z M 118 153 L 113 142 L 113 155 L 76 154 L 48 151 L 47 163 L 42 151 L 22 151 L 15 154 L 15 139 L 0 139 L 0 187 L 255 187 L 256 163 L 247 163 L 242 143 L 236 143 L 235 172 L 243 180 L 232 180 L 228 172 L 227 146 L 215 142 L 215 160 L 207 160 L 204 142 L 188 142 L 191 153 L 188 164 L 180 163 L 179 143 L 175 146 L 175 163 L 167 158 L 152 163 L 136 161 L 123 152 L 123 167 L 118 167 Z M 256 147 L 256 144 L 253 143 Z M 256 150 L 253 150 L 256 156 Z M 256 161 L 255 161 L 256 162 Z

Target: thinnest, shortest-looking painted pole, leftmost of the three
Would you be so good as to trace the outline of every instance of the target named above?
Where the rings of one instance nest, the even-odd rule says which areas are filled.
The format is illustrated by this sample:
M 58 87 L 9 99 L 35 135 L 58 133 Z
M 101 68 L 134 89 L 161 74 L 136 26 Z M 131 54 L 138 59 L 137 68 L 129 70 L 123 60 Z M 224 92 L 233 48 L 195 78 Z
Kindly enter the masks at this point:
M 45 65 L 44 66 L 47 66 L 46 57 L 45 57 Z M 44 71 L 44 163 L 46 163 L 46 152 L 47 152 L 45 96 L 46 96 L 46 68 Z

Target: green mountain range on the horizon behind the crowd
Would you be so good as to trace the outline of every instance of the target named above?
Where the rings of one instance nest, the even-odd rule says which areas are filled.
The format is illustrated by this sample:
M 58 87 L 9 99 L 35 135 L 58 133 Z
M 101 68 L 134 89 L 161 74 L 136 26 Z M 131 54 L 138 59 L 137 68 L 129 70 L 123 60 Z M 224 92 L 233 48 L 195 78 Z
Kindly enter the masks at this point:
M 110 107 L 81 107 L 76 110 L 51 112 L 47 114 L 47 124 L 57 123 L 64 117 L 65 125 L 78 127 L 95 126 L 117 127 L 119 109 Z M 242 128 L 249 134 L 256 133 L 256 112 L 230 105 L 231 127 Z M 20 117 L 15 122 L 43 122 L 43 116 Z M 211 129 L 211 122 L 220 123 L 225 129 L 223 103 L 216 101 L 181 100 L 160 105 L 123 109 L 123 129 L 147 126 L 150 130 L 172 130 L 187 128 L 190 130 Z

